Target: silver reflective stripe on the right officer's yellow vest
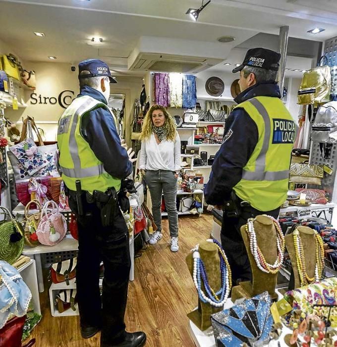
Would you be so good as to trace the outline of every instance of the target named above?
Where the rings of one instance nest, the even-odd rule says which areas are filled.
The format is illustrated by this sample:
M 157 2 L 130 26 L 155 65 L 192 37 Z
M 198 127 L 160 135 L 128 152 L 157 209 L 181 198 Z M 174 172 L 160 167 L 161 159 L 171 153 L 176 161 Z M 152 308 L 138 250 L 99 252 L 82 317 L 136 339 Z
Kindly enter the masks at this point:
M 256 158 L 255 171 L 243 170 L 242 178 L 249 181 L 279 181 L 289 177 L 289 170 L 284 171 L 266 171 L 266 154 L 269 149 L 269 139 L 271 134 L 270 117 L 265 107 L 257 99 L 249 101 L 260 113 L 265 123 L 265 136 L 259 156 Z

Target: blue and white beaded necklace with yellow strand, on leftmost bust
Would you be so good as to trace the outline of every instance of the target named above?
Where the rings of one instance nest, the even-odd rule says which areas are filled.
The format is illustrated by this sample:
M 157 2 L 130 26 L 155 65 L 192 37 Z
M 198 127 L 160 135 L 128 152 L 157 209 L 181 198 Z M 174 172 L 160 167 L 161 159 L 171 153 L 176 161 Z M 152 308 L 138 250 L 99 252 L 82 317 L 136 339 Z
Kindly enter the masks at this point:
M 208 239 L 208 242 L 214 242 L 218 247 L 218 253 L 220 257 L 220 269 L 221 269 L 221 288 L 215 292 L 208 283 L 208 277 L 204 262 L 200 258 L 199 245 L 197 245 L 193 252 L 193 282 L 195 288 L 198 290 L 199 298 L 202 302 L 209 303 L 212 306 L 222 307 L 224 306 L 231 289 L 231 272 L 228 264 L 227 257 L 221 244 L 215 239 Z M 204 284 L 206 293 L 201 289 L 201 284 Z

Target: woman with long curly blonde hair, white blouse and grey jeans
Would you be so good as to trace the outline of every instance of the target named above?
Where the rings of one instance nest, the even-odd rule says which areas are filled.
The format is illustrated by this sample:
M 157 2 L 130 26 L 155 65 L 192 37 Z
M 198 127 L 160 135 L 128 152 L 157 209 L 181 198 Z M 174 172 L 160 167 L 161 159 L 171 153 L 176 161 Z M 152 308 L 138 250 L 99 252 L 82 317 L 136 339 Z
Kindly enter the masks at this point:
M 157 243 L 162 237 L 162 193 L 169 217 L 171 251 L 177 252 L 178 213 L 176 207 L 177 178 L 181 168 L 180 138 L 174 119 L 160 105 L 151 106 L 146 114 L 140 136 L 139 169 L 149 187 L 152 200 L 152 214 L 157 226 L 150 244 Z

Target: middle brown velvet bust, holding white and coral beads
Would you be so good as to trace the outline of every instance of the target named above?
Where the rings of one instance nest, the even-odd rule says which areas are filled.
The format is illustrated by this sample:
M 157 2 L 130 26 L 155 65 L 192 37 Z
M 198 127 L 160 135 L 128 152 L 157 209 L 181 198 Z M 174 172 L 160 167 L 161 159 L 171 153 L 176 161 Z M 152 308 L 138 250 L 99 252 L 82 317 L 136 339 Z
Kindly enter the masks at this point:
M 278 298 L 275 292 L 278 274 L 267 274 L 261 271 L 255 262 L 250 251 L 250 240 L 245 230 L 246 226 L 242 226 L 240 231 L 247 249 L 250 266 L 252 269 L 252 282 L 241 282 L 238 286 L 233 287 L 231 300 L 240 298 L 251 298 L 255 295 L 268 291 L 272 300 Z M 254 230 L 256 233 L 257 244 L 261 249 L 266 261 L 274 264 L 278 256 L 277 233 L 273 221 L 266 216 L 257 216 L 254 221 Z

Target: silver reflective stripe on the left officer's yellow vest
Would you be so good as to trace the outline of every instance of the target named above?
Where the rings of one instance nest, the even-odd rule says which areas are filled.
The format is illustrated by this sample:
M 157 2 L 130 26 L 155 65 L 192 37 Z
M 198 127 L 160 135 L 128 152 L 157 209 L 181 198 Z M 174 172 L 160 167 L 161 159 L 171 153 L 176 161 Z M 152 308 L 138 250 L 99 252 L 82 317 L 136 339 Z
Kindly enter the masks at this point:
M 81 161 L 78 154 L 78 145 L 75 138 L 75 131 L 78 122 L 78 115 L 82 114 L 86 109 L 90 109 L 91 107 L 95 107 L 97 105 L 97 100 L 94 98 L 90 98 L 86 100 L 75 112 L 69 136 L 69 152 L 71 159 L 74 163 L 74 169 L 67 169 L 60 166 L 62 173 L 71 178 L 85 178 L 91 176 L 97 176 L 99 174 L 105 173 L 103 164 L 93 166 L 90 168 L 81 168 Z

